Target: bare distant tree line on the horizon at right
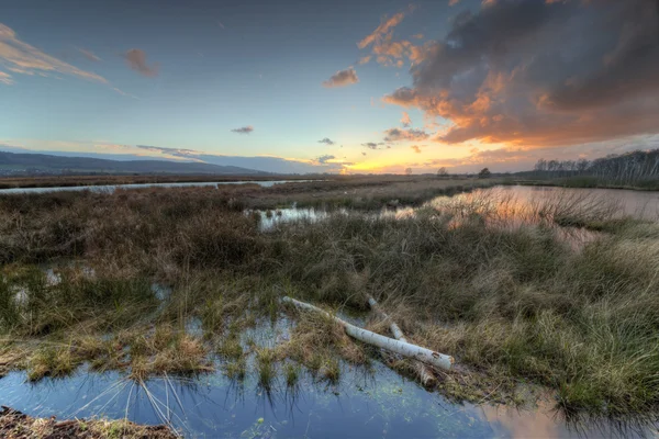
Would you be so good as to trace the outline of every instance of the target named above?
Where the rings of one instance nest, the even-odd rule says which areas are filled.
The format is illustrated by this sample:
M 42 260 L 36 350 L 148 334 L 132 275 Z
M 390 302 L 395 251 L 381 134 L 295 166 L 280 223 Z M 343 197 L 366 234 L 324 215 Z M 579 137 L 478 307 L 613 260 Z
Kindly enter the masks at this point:
M 534 167 L 538 177 L 589 176 L 619 183 L 659 178 L 659 149 L 636 150 L 587 160 L 539 159 Z

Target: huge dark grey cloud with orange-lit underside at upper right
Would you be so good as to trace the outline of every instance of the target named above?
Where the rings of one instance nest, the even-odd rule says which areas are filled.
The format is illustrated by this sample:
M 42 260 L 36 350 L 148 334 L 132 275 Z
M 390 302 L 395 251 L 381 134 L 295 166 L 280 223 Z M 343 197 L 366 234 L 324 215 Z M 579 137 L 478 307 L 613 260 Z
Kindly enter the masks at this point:
M 578 42 L 578 43 L 577 43 Z M 450 122 L 436 140 L 560 146 L 659 133 L 656 1 L 496 1 L 426 43 L 383 98 Z

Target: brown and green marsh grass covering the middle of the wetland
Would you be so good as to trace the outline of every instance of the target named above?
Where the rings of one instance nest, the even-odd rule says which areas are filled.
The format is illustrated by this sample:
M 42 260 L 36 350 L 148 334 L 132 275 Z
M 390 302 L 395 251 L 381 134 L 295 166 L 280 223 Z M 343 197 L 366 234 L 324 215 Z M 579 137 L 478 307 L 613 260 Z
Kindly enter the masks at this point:
M 389 190 L 371 200 L 391 200 Z M 421 200 L 424 190 L 414 191 L 399 202 Z M 368 364 L 373 352 L 331 320 L 291 314 L 290 339 L 277 346 L 245 346 L 239 335 L 259 319 L 282 318 L 282 295 L 364 312 L 371 294 L 411 340 L 456 357 L 458 371 L 440 375 L 439 387 L 457 399 L 514 401 L 524 382 L 551 389 L 567 413 L 656 413 L 656 223 L 565 198 L 512 221 L 513 200 L 474 191 L 411 215 L 348 212 L 260 233 L 258 218 L 243 213 L 255 199 L 237 193 L 0 196 L 4 370 L 22 367 L 38 379 L 89 362 L 142 381 L 210 371 L 216 354 L 241 380 L 254 354 L 265 389 L 279 373 L 290 386 L 297 367 L 335 383 L 339 359 Z M 560 235 L 565 226 L 602 233 L 574 249 Z M 71 256 L 93 275 L 71 267 Z M 59 281 L 36 262 L 58 267 Z M 155 281 L 171 294 L 158 299 Z M 373 328 L 388 334 L 386 325 Z M 11 357 L 26 347 L 26 359 Z

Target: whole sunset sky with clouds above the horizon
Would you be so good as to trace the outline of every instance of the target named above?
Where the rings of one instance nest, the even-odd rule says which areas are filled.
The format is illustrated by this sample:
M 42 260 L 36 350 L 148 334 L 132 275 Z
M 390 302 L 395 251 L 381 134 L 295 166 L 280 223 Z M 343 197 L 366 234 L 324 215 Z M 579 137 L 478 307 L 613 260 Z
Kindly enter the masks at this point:
M 657 0 L 0 10 L 2 150 L 416 173 L 657 147 Z

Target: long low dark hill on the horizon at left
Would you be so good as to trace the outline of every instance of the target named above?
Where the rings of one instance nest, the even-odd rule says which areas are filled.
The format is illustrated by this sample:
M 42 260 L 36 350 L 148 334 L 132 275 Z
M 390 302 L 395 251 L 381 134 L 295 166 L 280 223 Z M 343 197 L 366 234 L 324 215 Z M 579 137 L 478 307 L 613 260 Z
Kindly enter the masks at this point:
M 0 175 L 63 173 L 191 173 L 191 175 L 265 175 L 267 172 L 237 166 L 190 161 L 132 160 L 119 161 L 90 157 L 63 157 L 46 154 L 0 151 Z

